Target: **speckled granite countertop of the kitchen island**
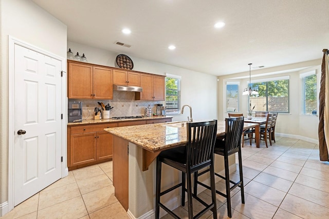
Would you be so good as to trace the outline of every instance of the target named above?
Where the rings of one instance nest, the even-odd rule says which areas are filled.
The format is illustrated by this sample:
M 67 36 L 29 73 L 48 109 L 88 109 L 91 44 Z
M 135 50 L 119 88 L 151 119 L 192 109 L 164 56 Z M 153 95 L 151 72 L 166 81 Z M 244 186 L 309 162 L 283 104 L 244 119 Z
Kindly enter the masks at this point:
M 107 128 L 105 131 L 122 137 L 146 150 L 156 152 L 187 142 L 186 122 L 158 123 Z M 217 135 L 225 134 L 225 121 L 217 121 Z

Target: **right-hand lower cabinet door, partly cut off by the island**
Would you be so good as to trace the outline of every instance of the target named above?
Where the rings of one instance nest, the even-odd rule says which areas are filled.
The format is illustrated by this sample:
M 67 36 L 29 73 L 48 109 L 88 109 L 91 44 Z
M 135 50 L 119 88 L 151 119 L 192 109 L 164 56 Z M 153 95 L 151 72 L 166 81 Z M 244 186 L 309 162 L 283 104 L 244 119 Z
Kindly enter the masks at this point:
M 97 160 L 112 158 L 113 135 L 107 131 L 97 132 Z

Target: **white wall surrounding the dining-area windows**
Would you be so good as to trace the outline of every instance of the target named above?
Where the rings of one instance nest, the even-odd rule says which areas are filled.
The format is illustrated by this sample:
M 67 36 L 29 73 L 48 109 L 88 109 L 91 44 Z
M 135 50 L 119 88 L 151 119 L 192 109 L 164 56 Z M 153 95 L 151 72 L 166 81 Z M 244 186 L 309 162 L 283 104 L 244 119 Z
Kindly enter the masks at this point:
M 282 136 L 299 138 L 301 140 L 318 142 L 318 123 L 319 117 L 314 115 L 301 115 L 301 80 L 299 74 L 302 72 L 315 69 L 317 72 L 318 80 L 318 94 L 320 89 L 320 76 L 321 76 L 321 59 L 314 61 L 308 61 L 304 63 L 298 63 L 293 65 L 279 66 L 275 68 L 268 68 L 263 70 L 255 70 L 251 72 L 252 79 L 262 79 L 271 77 L 280 77 L 289 75 L 289 101 L 290 112 L 287 114 L 279 113 L 276 123 L 276 133 Z M 291 71 L 291 69 L 296 69 Z M 303 69 L 303 70 L 301 70 Z M 282 73 L 289 71 L 287 73 Z M 269 73 L 274 73 L 269 75 Z M 247 76 L 247 78 L 241 79 L 241 77 Z M 235 78 L 235 79 L 234 79 Z M 226 82 L 234 81 L 240 82 L 239 90 L 242 91 L 247 87 L 249 81 L 249 72 L 226 75 L 218 77 L 218 120 L 224 120 L 227 117 L 226 112 Z M 246 116 L 248 111 L 248 97 L 239 96 L 239 111 Z

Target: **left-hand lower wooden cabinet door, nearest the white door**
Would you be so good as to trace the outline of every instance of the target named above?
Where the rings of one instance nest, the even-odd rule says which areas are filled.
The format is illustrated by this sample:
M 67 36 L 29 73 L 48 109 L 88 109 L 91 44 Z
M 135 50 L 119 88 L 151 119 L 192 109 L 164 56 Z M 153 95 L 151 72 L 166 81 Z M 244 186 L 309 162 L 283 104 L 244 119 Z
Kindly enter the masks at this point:
M 72 134 L 70 166 L 96 161 L 96 132 Z

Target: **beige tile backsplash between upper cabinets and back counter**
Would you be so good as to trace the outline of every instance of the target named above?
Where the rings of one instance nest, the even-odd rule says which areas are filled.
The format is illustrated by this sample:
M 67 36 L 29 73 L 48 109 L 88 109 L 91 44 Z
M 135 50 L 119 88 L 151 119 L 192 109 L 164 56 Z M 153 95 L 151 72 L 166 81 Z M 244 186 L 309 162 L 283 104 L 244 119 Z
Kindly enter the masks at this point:
M 156 113 L 156 104 L 165 105 L 165 101 L 135 101 L 135 92 L 113 91 L 113 99 L 68 99 L 68 101 L 82 102 L 82 119 L 92 119 L 97 102 L 103 102 L 114 107 L 109 113 L 110 117 L 144 115 L 145 108 L 150 106 L 152 113 Z M 89 111 L 90 110 L 90 115 Z

